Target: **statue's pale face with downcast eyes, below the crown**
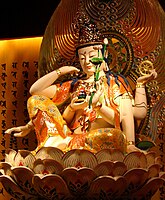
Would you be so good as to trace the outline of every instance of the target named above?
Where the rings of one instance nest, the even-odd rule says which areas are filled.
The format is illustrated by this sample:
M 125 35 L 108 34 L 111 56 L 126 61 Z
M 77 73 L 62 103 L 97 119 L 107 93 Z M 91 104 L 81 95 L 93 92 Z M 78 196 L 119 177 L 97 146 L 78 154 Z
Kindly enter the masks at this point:
M 98 50 L 99 49 L 99 50 Z M 84 73 L 91 76 L 95 72 L 95 65 L 91 62 L 92 58 L 102 57 L 100 45 L 91 45 L 78 50 L 79 61 Z

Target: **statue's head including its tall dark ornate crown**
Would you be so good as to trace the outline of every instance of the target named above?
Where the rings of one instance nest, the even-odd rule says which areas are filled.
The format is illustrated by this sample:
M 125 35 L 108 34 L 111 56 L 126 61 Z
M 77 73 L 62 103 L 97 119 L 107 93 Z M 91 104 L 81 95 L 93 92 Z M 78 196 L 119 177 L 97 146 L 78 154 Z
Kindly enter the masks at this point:
M 91 73 L 95 72 L 96 65 L 101 64 L 103 61 L 103 39 L 96 24 L 85 15 L 79 18 L 78 23 L 79 32 L 76 52 L 82 70 L 87 75 L 91 75 Z

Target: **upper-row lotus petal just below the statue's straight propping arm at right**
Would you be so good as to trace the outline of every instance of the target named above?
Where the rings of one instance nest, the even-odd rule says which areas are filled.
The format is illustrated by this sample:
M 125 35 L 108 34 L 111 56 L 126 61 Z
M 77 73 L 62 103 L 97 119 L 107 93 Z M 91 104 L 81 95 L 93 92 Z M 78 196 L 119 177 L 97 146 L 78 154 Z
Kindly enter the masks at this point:
M 123 162 L 128 170 L 133 168 L 147 168 L 146 156 L 140 151 L 127 154 Z

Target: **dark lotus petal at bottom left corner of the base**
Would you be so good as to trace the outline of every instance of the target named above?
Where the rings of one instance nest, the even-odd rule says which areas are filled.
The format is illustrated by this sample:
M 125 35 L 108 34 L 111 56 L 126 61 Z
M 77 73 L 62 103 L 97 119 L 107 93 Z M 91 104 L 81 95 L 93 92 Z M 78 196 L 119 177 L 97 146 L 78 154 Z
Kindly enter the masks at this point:
M 0 176 L 0 182 L 2 183 L 3 187 L 7 191 L 8 194 L 10 194 L 14 199 L 24 199 L 24 200 L 37 200 L 37 197 L 30 195 L 17 185 L 17 183 L 7 175 Z

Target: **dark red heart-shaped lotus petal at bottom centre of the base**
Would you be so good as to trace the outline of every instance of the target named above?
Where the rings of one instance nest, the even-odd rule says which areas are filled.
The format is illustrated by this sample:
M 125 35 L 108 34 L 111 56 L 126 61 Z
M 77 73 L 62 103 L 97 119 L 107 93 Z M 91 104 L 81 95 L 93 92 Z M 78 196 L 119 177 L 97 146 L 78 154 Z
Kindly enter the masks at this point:
M 61 174 L 72 195 L 85 195 L 96 173 L 89 168 L 67 168 Z

